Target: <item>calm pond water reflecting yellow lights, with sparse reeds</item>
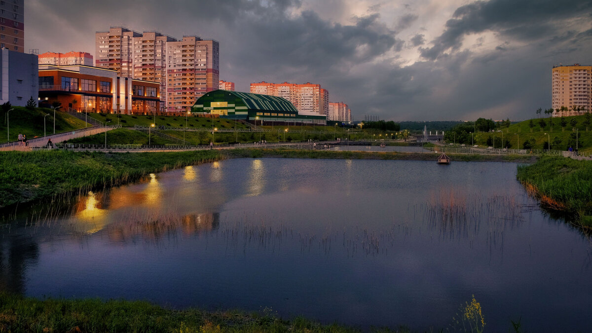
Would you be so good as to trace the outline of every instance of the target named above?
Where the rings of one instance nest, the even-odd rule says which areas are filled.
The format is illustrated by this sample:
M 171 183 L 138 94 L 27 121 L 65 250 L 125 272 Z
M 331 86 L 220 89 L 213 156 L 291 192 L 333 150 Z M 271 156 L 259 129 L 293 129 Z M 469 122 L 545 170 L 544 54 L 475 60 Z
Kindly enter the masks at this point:
M 474 294 L 487 331 L 592 326 L 590 239 L 516 164 L 231 159 L 39 211 L 0 227 L 0 289 L 414 329 Z

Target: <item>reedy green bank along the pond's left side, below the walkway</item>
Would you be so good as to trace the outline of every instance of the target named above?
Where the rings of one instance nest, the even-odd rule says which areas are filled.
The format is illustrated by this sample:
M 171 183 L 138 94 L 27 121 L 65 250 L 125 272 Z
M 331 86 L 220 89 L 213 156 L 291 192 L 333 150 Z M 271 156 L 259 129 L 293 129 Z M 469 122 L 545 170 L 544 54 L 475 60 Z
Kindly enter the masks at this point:
M 218 151 L 102 153 L 0 152 L 0 208 L 97 187 L 144 175 L 216 161 Z

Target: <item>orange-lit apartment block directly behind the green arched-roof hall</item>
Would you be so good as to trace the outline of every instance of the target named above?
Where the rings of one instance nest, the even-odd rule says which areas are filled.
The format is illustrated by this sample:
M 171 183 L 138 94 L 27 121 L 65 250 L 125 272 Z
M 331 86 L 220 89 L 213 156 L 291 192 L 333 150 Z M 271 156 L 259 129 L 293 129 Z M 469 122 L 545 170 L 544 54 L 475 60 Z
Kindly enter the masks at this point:
M 252 83 L 250 92 L 285 98 L 301 113 L 327 114 L 329 111 L 329 91 L 321 88 L 320 84 L 272 84 L 262 81 Z

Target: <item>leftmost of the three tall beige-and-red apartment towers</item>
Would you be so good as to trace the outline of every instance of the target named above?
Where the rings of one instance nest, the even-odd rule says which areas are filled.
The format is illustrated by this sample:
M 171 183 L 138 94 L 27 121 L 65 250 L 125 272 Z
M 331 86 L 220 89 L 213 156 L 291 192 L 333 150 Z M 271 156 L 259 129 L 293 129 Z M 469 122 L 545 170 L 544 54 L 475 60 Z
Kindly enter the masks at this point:
M 95 33 L 95 66 L 117 71 L 118 76 L 133 77 L 133 40 L 140 33 L 124 27 L 111 27 Z

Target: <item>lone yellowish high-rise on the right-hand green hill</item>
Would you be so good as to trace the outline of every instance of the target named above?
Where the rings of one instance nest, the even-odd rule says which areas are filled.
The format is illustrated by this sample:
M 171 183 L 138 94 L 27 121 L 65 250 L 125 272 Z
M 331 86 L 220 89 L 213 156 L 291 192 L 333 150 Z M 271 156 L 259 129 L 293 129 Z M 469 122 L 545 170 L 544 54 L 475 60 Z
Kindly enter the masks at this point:
M 570 66 L 554 66 L 551 71 L 551 105 L 554 117 L 577 116 L 590 112 L 592 106 L 592 66 L 574 63 Z M 562 107 L 568 109 L 561 110 Z M 557 111 L 559 110 L 559 111 Z

